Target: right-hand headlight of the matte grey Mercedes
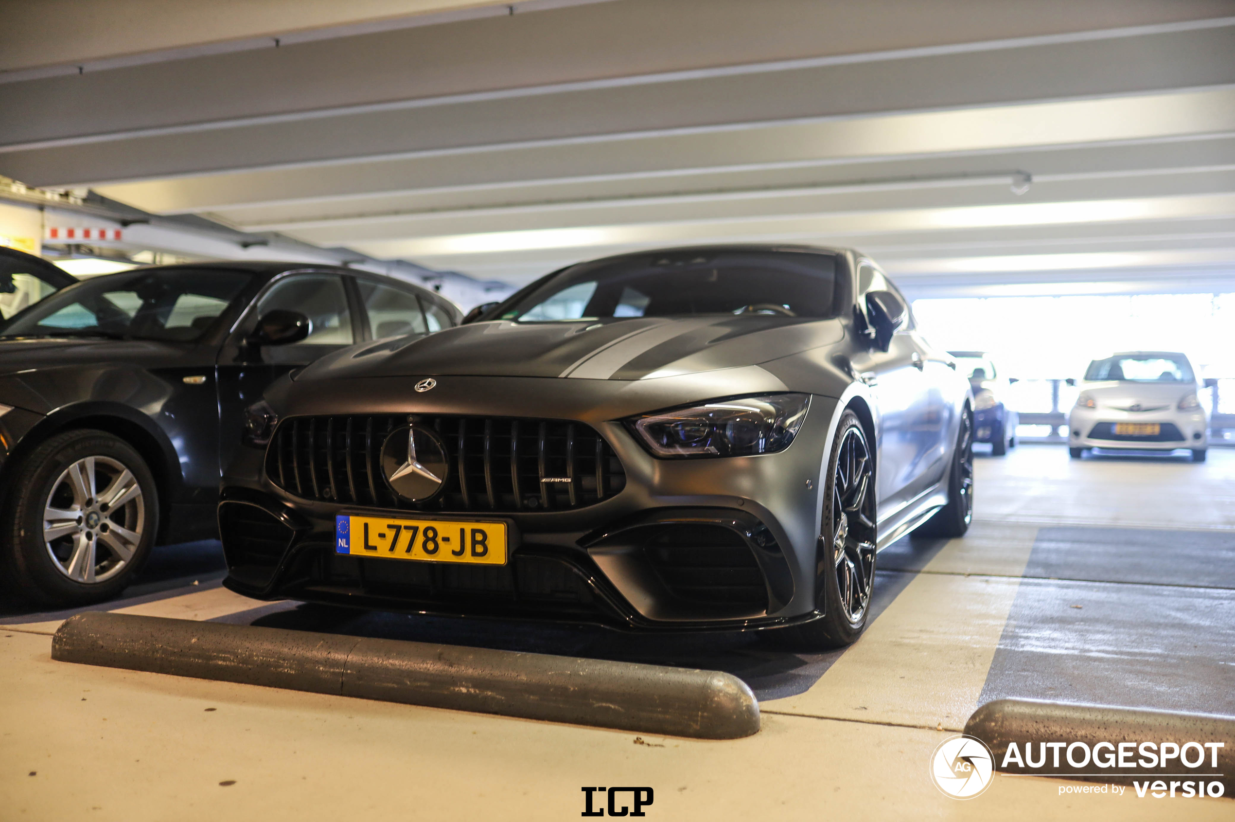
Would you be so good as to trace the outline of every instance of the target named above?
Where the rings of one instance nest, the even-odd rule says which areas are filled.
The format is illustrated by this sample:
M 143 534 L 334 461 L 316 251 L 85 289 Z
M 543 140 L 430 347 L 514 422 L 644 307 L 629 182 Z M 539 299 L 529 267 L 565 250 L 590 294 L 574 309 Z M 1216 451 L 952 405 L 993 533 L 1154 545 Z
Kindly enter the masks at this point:
M 653 456 L 751 456 L 789 447 L 810 407 L 809 394 L 718 399 L 626 420 Z

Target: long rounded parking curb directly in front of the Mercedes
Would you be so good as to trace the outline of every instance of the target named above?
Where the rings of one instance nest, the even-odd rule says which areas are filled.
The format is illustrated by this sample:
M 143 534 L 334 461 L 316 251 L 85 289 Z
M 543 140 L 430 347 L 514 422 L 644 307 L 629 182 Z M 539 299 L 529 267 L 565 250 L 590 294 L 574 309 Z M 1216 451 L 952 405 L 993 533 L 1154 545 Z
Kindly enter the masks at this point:
M 67 619 L 52 659 L 657 735 L 760 729 L 745 682 L 685 667 L 106 612 Z

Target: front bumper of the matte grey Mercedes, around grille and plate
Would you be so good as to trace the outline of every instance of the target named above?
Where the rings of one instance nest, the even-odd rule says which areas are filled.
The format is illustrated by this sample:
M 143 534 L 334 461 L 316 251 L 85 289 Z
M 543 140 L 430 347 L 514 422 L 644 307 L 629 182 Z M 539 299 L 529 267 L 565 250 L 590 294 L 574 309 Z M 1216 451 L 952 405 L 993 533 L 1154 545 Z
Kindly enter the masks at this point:
M 440 387 L 463 391 L 466 382 Z M 442 405 L 448 405 L 447 392 L 433 392 Z M 504 417 L 531 417 L 545 405 L 542 396 L 524 408 L 517 397 L 504 399 Z M 489 410 L 477 404 L 469 403 L 467 413 Z M 580 413 L 576 419 L 599 431 L 621 460 L 625 487 L 571 511 L 473 512 L 473 518 L 509 523 L 506 566 L 337 555 L 336 514 L 374 509 L 298 498 L 267 478 L 262 451 L 242 449 L 220 502 L 226 585 L 264 600 L 635 628 L 756 628 L 810 619 L 816 616 L 823 443 L 835 405 L 835 399 L 813 397 L 798 438 L 781 454 L 678 461 L 656 460 L 621 424 Z M 352 410 L 338 403 L 331 413 Z M 468 519 L 468 513 L 384 513 Z

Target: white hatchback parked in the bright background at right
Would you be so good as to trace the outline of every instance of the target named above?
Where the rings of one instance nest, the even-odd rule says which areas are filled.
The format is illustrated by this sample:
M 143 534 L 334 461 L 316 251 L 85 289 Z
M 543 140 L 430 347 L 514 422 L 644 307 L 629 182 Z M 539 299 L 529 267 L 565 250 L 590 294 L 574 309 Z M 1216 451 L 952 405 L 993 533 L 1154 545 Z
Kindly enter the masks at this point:
M 1191 449 L 1193 462 L 1205 461 L 1209 420 L 1184 355 L 1126 351 L 1094 360 L 1079 387 L 1077 404 L 1068 414 L 1073 459 L 1092 447 Z

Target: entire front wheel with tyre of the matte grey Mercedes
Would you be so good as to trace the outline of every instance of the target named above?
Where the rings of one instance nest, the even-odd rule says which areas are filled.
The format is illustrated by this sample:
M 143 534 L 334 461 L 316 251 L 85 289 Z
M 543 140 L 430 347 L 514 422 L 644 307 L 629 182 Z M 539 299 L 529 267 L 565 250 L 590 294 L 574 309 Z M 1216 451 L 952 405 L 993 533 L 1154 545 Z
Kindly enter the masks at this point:
M 806 649 L 853 644 L 866 629 L 874 587 L 874 450 L 857 414 L 836 426 L 820 518 L 816 619 L 773 632 L 783 645 Z M 839 514 L 839 515 L 837 515 Z

